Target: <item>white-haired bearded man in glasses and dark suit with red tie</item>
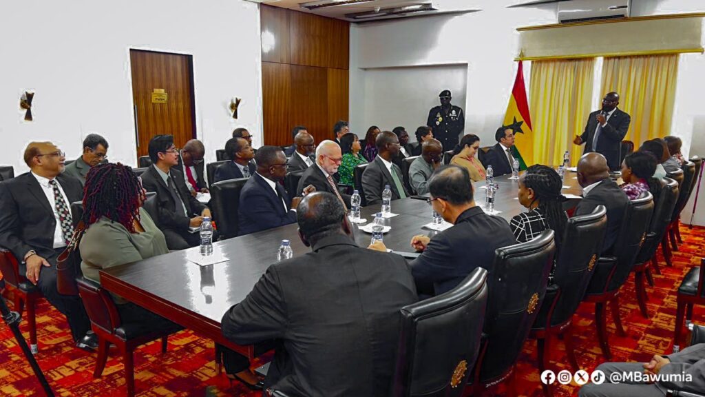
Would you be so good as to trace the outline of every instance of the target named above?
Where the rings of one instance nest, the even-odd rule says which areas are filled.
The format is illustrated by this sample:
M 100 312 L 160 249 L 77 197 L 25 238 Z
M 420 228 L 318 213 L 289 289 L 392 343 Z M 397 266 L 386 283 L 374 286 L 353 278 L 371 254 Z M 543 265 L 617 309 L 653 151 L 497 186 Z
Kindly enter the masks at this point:
M 327 191 L 335 194 L 343 204 L 345 210 L 350 207 L 350 195 L 338 191 L 338 167 L 341 166 L 343 155 L 337 143 L 325 140 L 316 148 L 316 165 L 309 167 L 299 179 L 296 189 L 297 196 L 302 196 L 306 186 L 313 185 L 316 191 Z

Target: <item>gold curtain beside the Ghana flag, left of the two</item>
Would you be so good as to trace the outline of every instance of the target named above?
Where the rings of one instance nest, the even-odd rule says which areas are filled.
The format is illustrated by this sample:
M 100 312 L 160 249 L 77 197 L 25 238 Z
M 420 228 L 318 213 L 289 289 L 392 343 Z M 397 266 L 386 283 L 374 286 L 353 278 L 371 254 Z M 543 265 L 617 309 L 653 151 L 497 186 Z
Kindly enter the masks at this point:
M 591 112 L 594 58 L 533 61 L 529 109 L 534 127 L 534 162 L 556 166 L 570 151 L 572 166 L 582 146 L 572 144 L 582 134 Z

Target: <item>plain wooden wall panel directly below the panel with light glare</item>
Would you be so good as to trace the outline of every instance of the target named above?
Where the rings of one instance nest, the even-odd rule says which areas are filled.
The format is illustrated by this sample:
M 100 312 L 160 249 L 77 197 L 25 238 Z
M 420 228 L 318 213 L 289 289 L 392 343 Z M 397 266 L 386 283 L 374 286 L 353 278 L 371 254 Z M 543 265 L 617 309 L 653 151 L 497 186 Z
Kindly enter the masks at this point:
M 262 62 L 262 118 L 265 145 L 286 145 L 291 141 L 291 66 Z

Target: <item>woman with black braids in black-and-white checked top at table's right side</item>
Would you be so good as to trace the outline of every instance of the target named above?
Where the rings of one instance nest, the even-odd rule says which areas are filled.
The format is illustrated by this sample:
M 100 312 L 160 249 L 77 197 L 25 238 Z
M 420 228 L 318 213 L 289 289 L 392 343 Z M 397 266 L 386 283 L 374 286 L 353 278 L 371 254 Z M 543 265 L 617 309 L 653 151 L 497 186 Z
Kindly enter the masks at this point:
M 529 209 L 515 215 L 510 227 L 517 242 L 527 242 L 546 229 L 552 229 L 556 247 L 563 239 L 568 215 L 563 211 L 565 197 L 560 194 L 563 181 L 558 172 L 546 165 L 532 165 L 519 177 L 519 202 Z

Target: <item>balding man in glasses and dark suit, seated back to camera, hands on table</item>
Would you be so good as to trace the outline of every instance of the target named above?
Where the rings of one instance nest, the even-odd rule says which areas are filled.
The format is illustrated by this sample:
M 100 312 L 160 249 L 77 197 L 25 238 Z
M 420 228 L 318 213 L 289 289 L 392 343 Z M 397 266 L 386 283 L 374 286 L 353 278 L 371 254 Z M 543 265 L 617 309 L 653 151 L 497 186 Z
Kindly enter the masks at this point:
M 494 251 L 517 244 L 506 220 L 487 215 L 475 205 L 469 180 L 467 169 L 458 165 L 439 168 L 429 180 L 429 203 L 453 227 L 432 239 L 425 235 L 412 238 L 412 247 L 423 251 L 411 263 L 419 294 L 448 292 L 478 267 L 491 273 Z M 379 244 L 371 248 L 386 249 Z

